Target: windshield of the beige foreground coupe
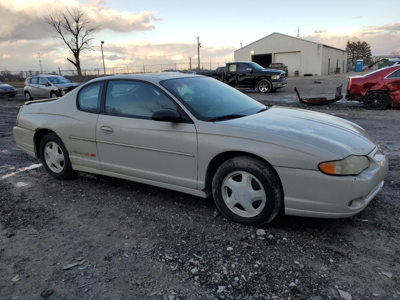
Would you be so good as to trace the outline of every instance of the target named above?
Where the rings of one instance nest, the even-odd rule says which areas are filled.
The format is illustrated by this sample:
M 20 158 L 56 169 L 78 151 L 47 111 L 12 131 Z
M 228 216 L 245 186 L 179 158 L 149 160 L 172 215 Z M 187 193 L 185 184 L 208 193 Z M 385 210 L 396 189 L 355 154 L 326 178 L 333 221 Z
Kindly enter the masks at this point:
M 266 108 L 242 92 L 210 77 L 176 78 L 160 84 L 203 121 L 223 116 L 240 117 L 228 115 L 248 116 Z

